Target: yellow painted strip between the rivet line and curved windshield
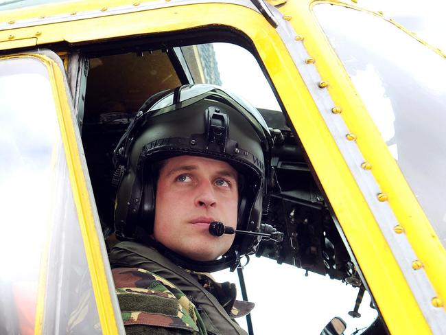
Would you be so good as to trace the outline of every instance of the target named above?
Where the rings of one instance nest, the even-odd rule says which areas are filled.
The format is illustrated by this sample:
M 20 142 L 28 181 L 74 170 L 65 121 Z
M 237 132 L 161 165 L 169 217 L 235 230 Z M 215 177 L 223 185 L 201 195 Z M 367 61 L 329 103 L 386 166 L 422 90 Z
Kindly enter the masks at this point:
M 293 25 L 296 32 L 305 38 L 303 43 L 309 54 L 316 59 L 315 65 L 321 78 L 329 82 L 329 87 L 327 89 L 331 98 L 335 102 L 335 105 L 342 109 L 340 117 L 342 117 L 345 124 L 347 124 L 347 128 L 349 128 L 350 132 L 356 135 L 357 146 L 360 148 L 366 162 L 370 163 L 373 167 L 371 170 L 373 176 L 380 187 L 382 187 L 382 192 L 388 195 L 388 203 L 390 207 L 394 211 L 400 225 L 403 227 L 404 233 L 406 233 L 412 249 L 414 249 L 418 256 L 418 260 L 422 262 L 425 272 L 430 279 L 430 283 L 437 293 L 436 297 L 432 297 L 432 301 L 426 301 L 426 303 L 432 304 L 433 307 L 441 308 L 443 306 L 437 304 L 441 304 L 441 301 L 445 301 L 446 298 L 446 285 L 444 281 L 446 276 L 446 251 L 434 232 L 434 229 L 432 229 L 430 222 L 427 220 L 425 213 L 416 201 L 408 183 L 401 174 L 401 170 L 399 170 L 397 163 L 395 163 L 395 159 L 392 158 L 388 151 L 386 143 L 382 140 L 373 119 L 371 119 L 362 100 L 360 100 L 359 95 L 355 91 L 342 62 L 340 62 L 338 56 L 331 48 L 329 41 L 327 41 L 327 37 L 318 25 L 317 19 L 312 13 L 312 6 L 317 5 L 318 3 L 343 5 L 345 7 L 360 10 L 360 8 L 357 8 L 354 5 L 341 3 L 340 1 L 297 1 L 283 5 L 279 10 L 284 16 L 292 18 L 290 23 Z M 382 14 L 378 12 L 371 12 L 371 14 L 382 16 Z M 390 21 L 390 23 L 401 29 L 401 26 L 397 23 L 393 21 Z M 419 38 L 416 39 L 419 40 Z M 430 45 L 427 45 L 427 47 L 430 47 Z M 433 47 L 430 48 L 438 53 L 438 50 Z M 440 54 L 440 56 L 444 55 Z M 332 203 L 331 198 L 330 201 Z M 339 207 L 333 207 L 339 217 Z M 357 222 L 355 222 L 355 224 L 357 224 Z M 357 254 L 359 249 L 355 249 L 353 245 L 356 243 L 356 240 L 361 242 L 364 241 L 364 238 L 361 237 L 361 234 L 364 234 L 364 231 L 355 231 L 353 227 L 348 227 L 343 222 L 341 222 L 341 225 L 353 251 L 355 251 L 355 254 L 357 255 L 358 262 L 363 264 L 362 261 L 364 258 Z M 349 231 L 351 231 L 351 233 L 349 233 Z M 378 241 L 379 239 L 376 240 Z M 382 253 L 378 253 L 377 255 L 382 257 Z M 374 257 L 374 255 L 372 257 Z M 415 260 L 416 259 L 414 259 L 414 261 Z M 367 275 L 366 278 L 368 279 Z M 390 281 L 384 285 L 395 282 L 395 278 L 389 277 L 388 279 L 390 279 Z M 397 280 L 398 285 L 401 285 L 402 282 L 403 281 Z M 371 287 L 374 286 L 370 279 L 368 279 L 368 283 Z M 394 287 L 395 286 L 390 287 L 390 289 Z M 375 295 L 375 299 L 378 299 L 373 288 L 372 291 Z M 386 317 L 386 313 L 383 311 L 383 305 L 379 304 L 379 307 L 381 308 L 388 325 L 391 324 L 388 317 Z M 401 310 L 398 310 L 398 312 L 400 313 Z M 420 332 L 421 334 L 421 330 L 415 331 L 412 329 L 408 330 L 408 332 L 415 332 L 416 334 L 419 334 Z M 423 334 L 425 333 L 423 332 Z

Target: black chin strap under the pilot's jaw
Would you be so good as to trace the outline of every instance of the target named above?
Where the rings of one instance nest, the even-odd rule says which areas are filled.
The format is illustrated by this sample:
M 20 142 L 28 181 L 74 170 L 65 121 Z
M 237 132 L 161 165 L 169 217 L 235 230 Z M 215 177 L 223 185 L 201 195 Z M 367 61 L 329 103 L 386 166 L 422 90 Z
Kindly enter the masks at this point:
M 152 246 L 152 248 L 156 249 L 163 255 L 168 258 L 174 264 L 180 266 L 181 268 L 187 268 L 187 270 L 204 272 L 204 273 L 213 273 L 215 271 L 223 270 L 225 268 L 229 268 L 231 272 L 233 272 L 237 266 L 240 264 L 240 256 L 238 251 L 233 250 L 233 248 L 229 249 L 227 253 L 222 255 L 221 258 L 215 259 L 213 261 L 195 261 L 183 255 L 180 255 L 160 242 L 155 241 L 151 235 L 143 229 L 143 227 L 137 227 L 135 231 L 135 236 L 137 242 L 143 243 L 147 246 Z

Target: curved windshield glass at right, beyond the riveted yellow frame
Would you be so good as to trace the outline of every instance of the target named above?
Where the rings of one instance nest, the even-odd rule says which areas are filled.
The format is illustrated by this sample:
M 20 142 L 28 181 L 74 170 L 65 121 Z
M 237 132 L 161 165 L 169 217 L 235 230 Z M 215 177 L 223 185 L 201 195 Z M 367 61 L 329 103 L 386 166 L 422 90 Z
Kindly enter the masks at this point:
M 323 4 L 314 12 L 446 246 L 445 59 L 372 14 Z

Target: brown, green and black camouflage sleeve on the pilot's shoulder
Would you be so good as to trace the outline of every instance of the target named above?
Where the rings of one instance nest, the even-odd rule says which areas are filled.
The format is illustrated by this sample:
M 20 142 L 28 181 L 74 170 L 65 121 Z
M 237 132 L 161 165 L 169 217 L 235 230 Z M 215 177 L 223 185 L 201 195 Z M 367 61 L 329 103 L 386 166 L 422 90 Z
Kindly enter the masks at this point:
M 196 306 L 174 284 L 141 268 L 115 268 L 112 273 L 128 334 L 142 334 L 141 325 L 150 334 L 207 334 Z

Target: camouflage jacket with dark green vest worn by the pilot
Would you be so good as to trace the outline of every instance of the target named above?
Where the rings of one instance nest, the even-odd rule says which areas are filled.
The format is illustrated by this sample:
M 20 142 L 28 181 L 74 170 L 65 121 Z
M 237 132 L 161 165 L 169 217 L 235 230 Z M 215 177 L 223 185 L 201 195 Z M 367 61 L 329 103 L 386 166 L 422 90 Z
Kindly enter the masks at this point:
M 233 319 L 254 304 L 236 301 L 234 284 L 184 270 L 134 242 L 117 244 L 109 257 L 127 334 L 246 334 Z

